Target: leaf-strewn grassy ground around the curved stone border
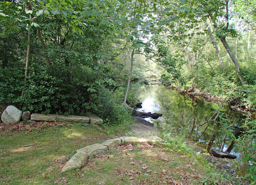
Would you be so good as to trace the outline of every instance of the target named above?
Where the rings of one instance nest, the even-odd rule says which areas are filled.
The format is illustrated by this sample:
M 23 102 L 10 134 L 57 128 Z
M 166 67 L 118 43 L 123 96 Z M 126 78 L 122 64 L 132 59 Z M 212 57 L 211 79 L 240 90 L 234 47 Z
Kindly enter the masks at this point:
M 89 124 L 19 125 L 7 129 L 1 123 L 0 184 L 182 185 L 209 184 L 213 179 L 216 184 L 226 183 L 221 175 L 215 175 L 212 180 L 208 178 L 216 172 L 204 157 L 166 151 L 161 144 L 122 145 L 90 158 L 82 169 L 60 173 L 76 149 L 114 136 Z M 117 136 L 124 134 L 116 133 Z M 35 145 L 21 147 L 32 143 Z

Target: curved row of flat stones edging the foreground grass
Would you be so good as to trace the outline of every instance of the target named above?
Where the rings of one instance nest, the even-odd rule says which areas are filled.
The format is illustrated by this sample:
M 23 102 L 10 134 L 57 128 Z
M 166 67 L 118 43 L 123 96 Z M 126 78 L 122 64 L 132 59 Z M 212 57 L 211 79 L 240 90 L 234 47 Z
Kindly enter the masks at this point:
M 157 136 L 150 137 L 119 137 L 115 139 L 109 139 L 101 144 L 92 144 L 76 150 L 76 154 L 73 155 L 68 162 L 61 169 L 62 172 L 68 170 L 81 169 L 87 164 L 87 160 L 93 157 L 94 154 L 103 153 L 107 150 L 113 150 L 119 145 L 128 144 L 145 144 L 148 142 L 163 142 L 163 139 Z

